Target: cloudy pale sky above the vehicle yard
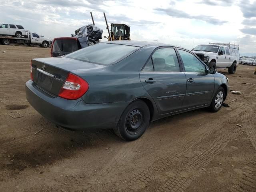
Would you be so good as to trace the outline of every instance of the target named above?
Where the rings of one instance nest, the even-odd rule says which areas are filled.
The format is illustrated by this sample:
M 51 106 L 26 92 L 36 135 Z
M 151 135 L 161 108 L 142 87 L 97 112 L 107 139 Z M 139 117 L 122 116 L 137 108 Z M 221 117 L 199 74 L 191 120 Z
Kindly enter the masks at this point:
M 188 49 L 209 42 L 240 44 L 256 53 L 256 0 L 0 0 L 0 23 L 21 24 L 46 37 L 70 36 L 92 23 L 107 36 L 108 23 L 131 26 L 132 40 Z

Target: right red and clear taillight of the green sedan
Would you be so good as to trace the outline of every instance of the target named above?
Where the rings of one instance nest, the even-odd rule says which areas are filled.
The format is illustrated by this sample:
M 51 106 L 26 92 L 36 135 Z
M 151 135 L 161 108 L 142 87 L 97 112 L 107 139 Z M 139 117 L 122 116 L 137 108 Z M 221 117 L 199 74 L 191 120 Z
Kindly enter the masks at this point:
M 85 80 L 69 73 L 58 96 L 69 100 L 76 100 L 83 96 L 88 88 L 89 84 Z

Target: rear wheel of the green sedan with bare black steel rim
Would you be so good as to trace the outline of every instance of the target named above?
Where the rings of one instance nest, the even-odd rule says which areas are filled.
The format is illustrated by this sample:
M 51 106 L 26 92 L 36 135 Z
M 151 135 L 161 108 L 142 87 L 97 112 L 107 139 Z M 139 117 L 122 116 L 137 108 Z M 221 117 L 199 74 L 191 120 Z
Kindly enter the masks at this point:
M 135 121 L 135 122 L 134 122 Z M 136 100 L 122 113 L 114 132 L 126 141 L 140 138 L 150 123 L 150 111 L 146 103 Z

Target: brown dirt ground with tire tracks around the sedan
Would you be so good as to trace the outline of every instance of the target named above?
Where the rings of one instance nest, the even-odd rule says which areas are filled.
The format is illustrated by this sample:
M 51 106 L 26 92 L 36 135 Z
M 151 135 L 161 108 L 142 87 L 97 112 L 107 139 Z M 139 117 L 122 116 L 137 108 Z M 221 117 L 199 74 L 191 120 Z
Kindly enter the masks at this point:
M 1 192 L 256 191 L 256 85 L 238 83 L 256 84 L 255 66 L 221 70 L 242 92 L 229 93 L 229 108 L 164 118 L 124 142 L 112 130 L 58 128 L 30 106 L 30 60 L 49 56 L 50 48 L 0 45 Z

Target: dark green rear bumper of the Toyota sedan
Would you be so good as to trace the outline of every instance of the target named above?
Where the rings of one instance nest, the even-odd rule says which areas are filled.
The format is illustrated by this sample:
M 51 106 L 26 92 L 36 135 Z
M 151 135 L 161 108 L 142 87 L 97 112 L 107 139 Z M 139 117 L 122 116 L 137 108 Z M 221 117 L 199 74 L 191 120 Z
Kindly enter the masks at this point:
M 62 127 L 74 130 L 113 128 L 128 105 L 127 102 L 86 104 L 82 99 L 54 98 L 29 80 L 26 98 L 42 116 Z

